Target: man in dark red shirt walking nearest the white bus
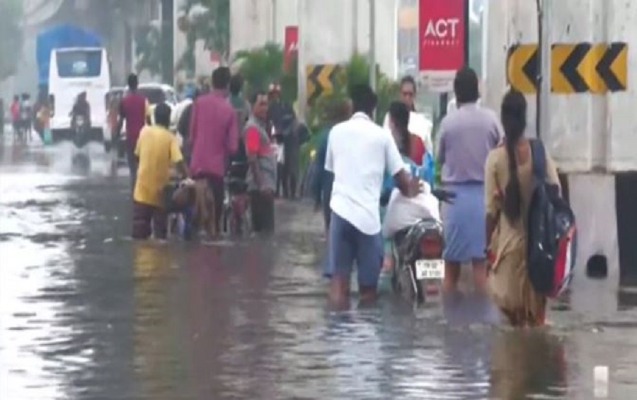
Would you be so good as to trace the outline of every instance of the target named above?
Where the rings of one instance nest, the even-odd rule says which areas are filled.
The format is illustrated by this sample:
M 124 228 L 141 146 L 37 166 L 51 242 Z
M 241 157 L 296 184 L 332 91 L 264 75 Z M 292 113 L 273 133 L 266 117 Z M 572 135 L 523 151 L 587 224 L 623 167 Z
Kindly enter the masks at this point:
M 130 180 L 132 188 L 135 187 L 137 181 L 137 158 L 135 157 L 135 147 L 139 132 L 146 125 L 146 116 L 148 110 L 148 102 L 142 93 L 137 91 L 137 75 L 130 74 L 128 76 L 128 93 L 120 102 L 120 121 L 117 123 L 117 137 L 120 137 L 122 125 L 126 121 L 126 156 L 128 159 L 128 168 L 130 169 Z

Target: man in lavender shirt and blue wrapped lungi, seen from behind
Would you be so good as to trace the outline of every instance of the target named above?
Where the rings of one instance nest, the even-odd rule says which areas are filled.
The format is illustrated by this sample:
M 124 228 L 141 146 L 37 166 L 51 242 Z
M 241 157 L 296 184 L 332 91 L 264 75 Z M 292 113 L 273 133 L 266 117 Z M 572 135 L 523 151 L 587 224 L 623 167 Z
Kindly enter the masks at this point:
M 478 102 L 478 76 L 461 69 L 454 80 L 457 110 L 447 115 L 438 132 L 438 160 L 442 185 L 456 193 L 444 205 L 444 289 L 454 290 L 460 266 L 472 263 L 476 289 L 486 288 L 486 230 L 484 222 L 484 165 L 503 137 L 498 115 Z

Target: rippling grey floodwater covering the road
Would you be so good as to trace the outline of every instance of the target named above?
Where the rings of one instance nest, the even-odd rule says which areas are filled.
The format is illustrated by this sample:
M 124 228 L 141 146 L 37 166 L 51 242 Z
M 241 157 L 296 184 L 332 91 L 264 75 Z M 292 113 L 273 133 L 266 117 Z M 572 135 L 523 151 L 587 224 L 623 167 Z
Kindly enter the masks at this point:
M 1 148 L 0 399 L 593 399 L 596 366 L 637 398 L 617 282 L 578 277 L 537 331 L 470 292 L 331 311 L 309 205 L 278 204 L 272 241 L 134 243 L 125 171 L 70 152 Z

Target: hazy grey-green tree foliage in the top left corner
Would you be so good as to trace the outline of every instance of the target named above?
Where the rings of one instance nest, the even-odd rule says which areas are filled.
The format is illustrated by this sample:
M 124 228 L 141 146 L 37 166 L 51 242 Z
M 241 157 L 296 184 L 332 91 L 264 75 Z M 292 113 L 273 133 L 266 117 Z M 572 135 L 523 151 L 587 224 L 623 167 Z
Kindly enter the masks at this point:
M 0 1 L 0 81 L 16 74 L 22 48 L 23 4 L 21 0 Z

